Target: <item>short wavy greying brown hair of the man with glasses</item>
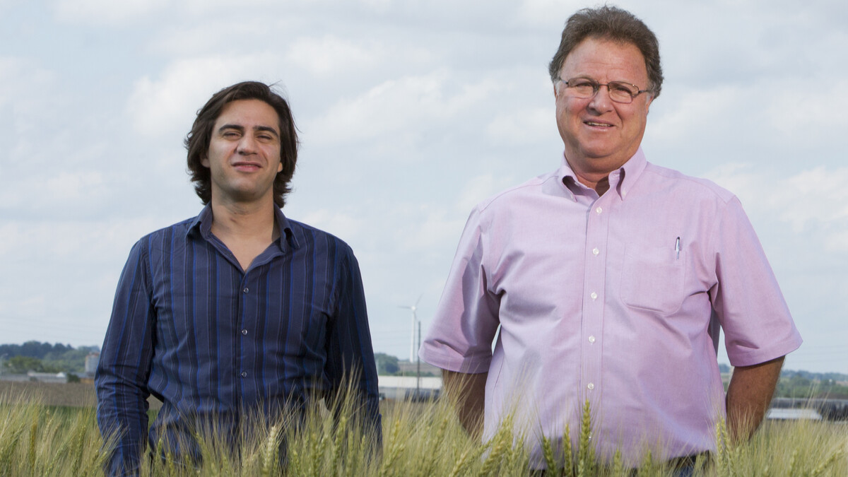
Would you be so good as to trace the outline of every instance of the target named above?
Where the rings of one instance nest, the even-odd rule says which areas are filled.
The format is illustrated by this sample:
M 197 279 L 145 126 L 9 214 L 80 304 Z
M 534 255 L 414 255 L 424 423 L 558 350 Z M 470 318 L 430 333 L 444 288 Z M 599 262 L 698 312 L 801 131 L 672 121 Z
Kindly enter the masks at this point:
M 656 40 L 642 20 L 627 10 L 605 5 L 599 8 L 583 8 L 566 21 L 562 31 L 560 48 L 554 59 L 550 60 L 548 72 L 550 80 L 560 79 L 562 64 L 568 53 L 586 38 L 607 38 L 614 42 L 631 43 L 644 57 L 644 67 L 648 71 L 650 93 L 654 98 L 662 89 L 662 66 L 660 65 L 660 42 Z M 567 79 L 567 78 L 566 78 Z

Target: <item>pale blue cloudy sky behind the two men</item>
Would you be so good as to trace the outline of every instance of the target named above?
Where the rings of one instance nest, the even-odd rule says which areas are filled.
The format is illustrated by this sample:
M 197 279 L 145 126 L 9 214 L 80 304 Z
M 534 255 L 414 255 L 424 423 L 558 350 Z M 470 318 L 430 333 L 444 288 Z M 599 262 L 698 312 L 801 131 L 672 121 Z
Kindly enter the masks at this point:
M 649 160 L 739 195 L 805 339 L 848 373 L 848 3 L 620 1 L 666 81 Z M 559 166 L 547 64 L 594 3 L 0 0 L 0 343 L 99 345 L 131 245 L 195 216 L 182 138 L 276 83 L 302 148 L 287 216 L 360 260 L 375 351 L 426 329 L 471 207 Z M 720 361 L 726 362 L 726 357 Z

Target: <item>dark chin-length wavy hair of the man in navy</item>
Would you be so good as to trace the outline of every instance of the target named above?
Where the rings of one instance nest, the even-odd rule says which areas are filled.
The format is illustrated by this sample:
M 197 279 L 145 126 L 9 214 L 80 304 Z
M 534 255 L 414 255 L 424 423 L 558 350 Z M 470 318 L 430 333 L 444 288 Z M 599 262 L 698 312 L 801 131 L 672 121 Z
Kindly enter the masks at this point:
M 280 163 L 282 171 L 274 178 L 274 203 L 278 207 L 286 204 L 286 194 L 292 191 L 289 183 L 294 175 L 294 166 L 298 161 L 298 133 L 294 126 L 292 110 L 288 103 L 278 93 L 265 83 L 243 81 L 226 87 L 212 95 L 204 107 L 198 110 L 192 131 L 188 133 L 185 146 L 188 150 L 188 172 L 192 175 L 194 192 L 198 194 L 204 205 L 212 199 L 212 179 L 209 167 L 202 164 L 209 153 L 209 141 L 212 139 L 212 129 L 218 121 L 220 112 L 226 104 L 240 99 L 259 99 L 276 110 L 280 118 Z

